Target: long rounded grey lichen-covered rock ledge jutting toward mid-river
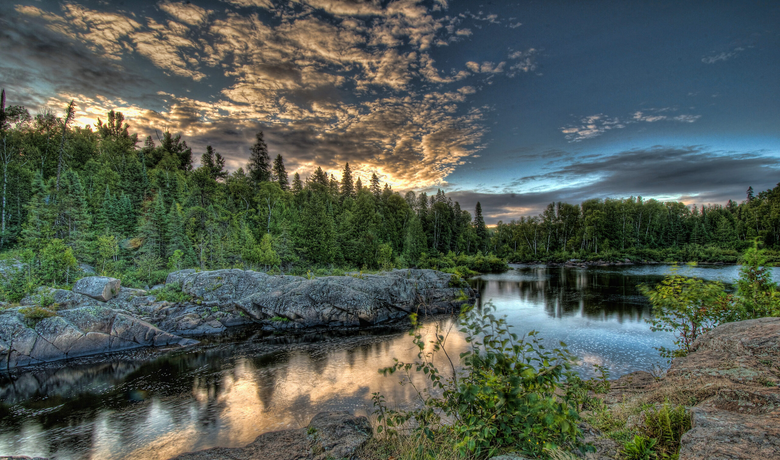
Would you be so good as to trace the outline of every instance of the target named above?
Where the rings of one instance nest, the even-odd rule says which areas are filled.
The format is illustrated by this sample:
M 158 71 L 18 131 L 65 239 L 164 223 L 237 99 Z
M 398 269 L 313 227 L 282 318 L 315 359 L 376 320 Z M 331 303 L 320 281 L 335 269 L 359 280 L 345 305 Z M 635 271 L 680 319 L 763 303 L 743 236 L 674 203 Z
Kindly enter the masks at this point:
M 394 270 L 302 278 L 238 269 L 174 272 L 169 279 L 201 303 L 232 306 L 269 327 L 358 326 L 413 312 L 444 313 L 473 298 L 452 288 L 452 275 L 434 270 Z M 466 299 L 460 296 L 466 295 Z M 271 318 L 289 321 L 274 322 Z M 195 320 L 195 318 L 193 318 Z

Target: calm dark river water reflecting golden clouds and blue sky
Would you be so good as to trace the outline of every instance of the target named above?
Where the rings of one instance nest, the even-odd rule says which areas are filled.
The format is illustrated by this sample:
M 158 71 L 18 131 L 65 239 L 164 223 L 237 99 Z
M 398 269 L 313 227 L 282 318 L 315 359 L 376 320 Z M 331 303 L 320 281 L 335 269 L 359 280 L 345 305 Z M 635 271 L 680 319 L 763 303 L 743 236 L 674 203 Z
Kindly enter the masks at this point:
M 697 267 L 697 276 L 731 281 L 738 267 Z M 548 345 L 566 341 L 592 364 L 619 375 L 647 370 L 653 347 L 650 308 L 636 285 L 666 266 L 523 267 L 471 280 L 515 331 L 541 331 Z M 449 330 L 451 317 L 428 320 Z M 214 446 L 241 446 L 269 430 L 306 426 L 323 410 L 371 411 L 371 392 L 408 405 L 412 387 L 378 368 L 415 355 L 408 323 L 360 330 L 273 335 L 252 330 L 184 350 L 124 352 L 0 373 L 0 455 L 56 459 L 161 459 Z M 448 349 L 465 349 L 452 328 Z M 451 353 L 452 356 L 452 353 Z

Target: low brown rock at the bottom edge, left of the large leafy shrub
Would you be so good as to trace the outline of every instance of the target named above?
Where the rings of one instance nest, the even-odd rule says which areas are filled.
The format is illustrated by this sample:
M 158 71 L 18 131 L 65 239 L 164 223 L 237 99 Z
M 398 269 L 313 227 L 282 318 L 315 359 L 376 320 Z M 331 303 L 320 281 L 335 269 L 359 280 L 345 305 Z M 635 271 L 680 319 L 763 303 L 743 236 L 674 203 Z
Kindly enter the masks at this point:
M 320 412 L 307 428 L 263 433 L 243 448 L 211 448 L 188 452 L 172 460 L 353 458 L 371 434 L 371 424 L 366 417 L 355 417 L 346 411 Z

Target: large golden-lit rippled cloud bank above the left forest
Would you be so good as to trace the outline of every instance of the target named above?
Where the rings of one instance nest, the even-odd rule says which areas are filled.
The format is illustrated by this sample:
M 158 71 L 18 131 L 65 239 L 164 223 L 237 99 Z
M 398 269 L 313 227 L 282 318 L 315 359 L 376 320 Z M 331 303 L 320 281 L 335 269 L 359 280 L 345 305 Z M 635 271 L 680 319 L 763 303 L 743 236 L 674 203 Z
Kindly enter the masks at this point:
M 339 172 L 349 161 L 362 165 L 357 174 L 410 188 L 442 183 L 484 147 L 484 108 L 470 106 L 477 89 L 467 79 L 534 69 L 533 48 L 507 62 L 438 69 L 431 48 L 472 34 L 464 17 L 445 13 L 446 2 L 226 3 L 211 10 L 165 0 L 145 16 L 75 2 L 20 6 L 19 20 L 3 23 L 0 40 L 13 51 L 0 50 L 0 75 L 19 93 L 44 94 L 30 96 L 30 107 L 73 98 L 80 123 L 116 108 L 142 135 L 167 126 L 195 151 L 213 145 L 230 168 L 243 165 L 262 129 L 291 171 Z M 190 82 L 172 90 L 176 80 L 147 77 L 161 75 Z

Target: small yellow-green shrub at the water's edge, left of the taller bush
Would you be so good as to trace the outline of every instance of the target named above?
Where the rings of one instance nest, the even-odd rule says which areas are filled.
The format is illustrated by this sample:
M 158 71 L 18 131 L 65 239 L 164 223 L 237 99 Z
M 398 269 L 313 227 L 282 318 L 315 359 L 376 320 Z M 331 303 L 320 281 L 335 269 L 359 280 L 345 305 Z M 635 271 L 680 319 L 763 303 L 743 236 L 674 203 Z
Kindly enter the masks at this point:
M 654 317 L 646 320 L 651 330 L 675 334 L 677 349 L 658 349 L 665 358 L 686 356 L 693 341 L 722 320 L 724 290 L 719 282 L 686 277 L 674 267 L 654 288 L 640 285 L 639 289 L 653 306 Z

